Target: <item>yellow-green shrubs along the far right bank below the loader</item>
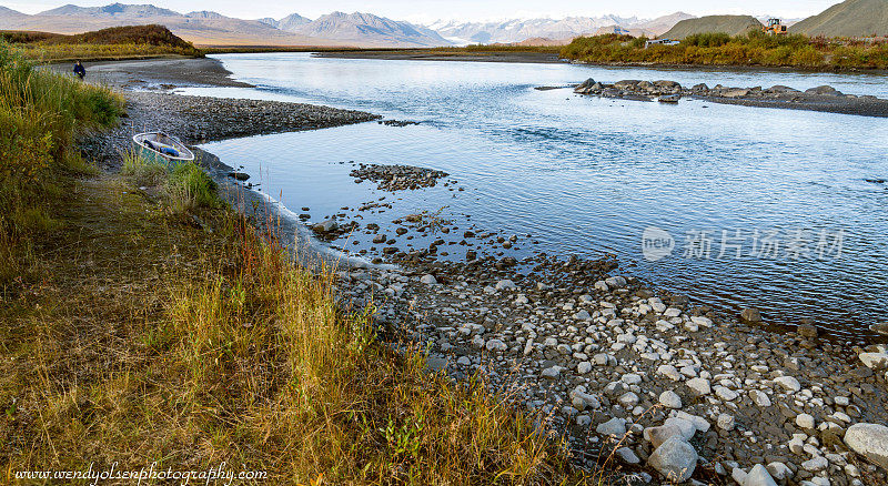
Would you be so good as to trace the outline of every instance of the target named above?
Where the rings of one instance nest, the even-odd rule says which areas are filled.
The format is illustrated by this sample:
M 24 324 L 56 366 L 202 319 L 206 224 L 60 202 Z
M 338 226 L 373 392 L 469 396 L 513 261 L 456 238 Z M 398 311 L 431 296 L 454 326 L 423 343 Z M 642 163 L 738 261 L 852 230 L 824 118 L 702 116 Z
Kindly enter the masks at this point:
M 591 63 L 786 67 L 810 70 L 888 69 L 888 43 L 805 36 L 690 36 L 678 45 L 650 45 L 629 36 L 581 37 L 561 55 Z

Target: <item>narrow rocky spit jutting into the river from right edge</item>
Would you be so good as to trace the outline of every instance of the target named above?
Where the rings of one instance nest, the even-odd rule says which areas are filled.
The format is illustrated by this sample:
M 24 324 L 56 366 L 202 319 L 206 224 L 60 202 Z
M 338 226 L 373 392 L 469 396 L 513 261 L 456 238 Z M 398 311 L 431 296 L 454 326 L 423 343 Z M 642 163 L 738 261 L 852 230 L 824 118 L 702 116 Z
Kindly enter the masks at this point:
M 745 107 L 781 108 L 791 110 L 823 111 L 865 117 L 888 117 L 888 100 L 871 95 L 845 94 L 829 85 L 799 91 L 785 85 L 770 88 L 730 88 L 720 84 L 709 88 L 696 84 L 692 88 L 675 81 L 622 80 L 602 83 L 589 78 L 574 87 L 577 94 L 598 95 L 637 101 L 677 103 L 682 98 Z

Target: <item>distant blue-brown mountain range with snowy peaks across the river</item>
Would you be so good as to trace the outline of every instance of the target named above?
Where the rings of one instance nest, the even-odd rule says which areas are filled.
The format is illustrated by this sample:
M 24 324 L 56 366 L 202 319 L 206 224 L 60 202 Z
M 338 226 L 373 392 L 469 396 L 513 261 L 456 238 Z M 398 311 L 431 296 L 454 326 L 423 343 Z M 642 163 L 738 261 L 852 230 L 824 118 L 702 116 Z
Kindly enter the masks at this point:
M 297 13 L 282 19 L 235 19 L 212 11 L 180 13 L 152 4 L 67 4 L 36 14 L 0 7 L 0 29 L 80 33 L 117 26 L 159 23 L 198 45 L 340 45 L 427 48 L 467 43 L 521 42 L 531 38 L 566 43 L 599 29 L 629 29 L 656 36 L 693 18 L 677 12 L 654 20 L 617 16 L 515 19 L 501 22 L 438 21 L 426 26 L 372 13 L 332 12 L 317 19 Z M 613 30 L 612 30 L 613 31 Z

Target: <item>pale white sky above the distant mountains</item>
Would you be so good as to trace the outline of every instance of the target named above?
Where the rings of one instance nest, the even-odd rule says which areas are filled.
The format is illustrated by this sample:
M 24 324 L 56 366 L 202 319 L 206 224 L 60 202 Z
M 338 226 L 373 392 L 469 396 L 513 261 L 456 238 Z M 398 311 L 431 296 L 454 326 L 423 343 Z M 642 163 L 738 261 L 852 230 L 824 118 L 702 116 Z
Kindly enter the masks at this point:
M 618 14 L 653 19 L 663 14 L 684 11 L 695 16 L 734 13 L 751 16 L 777 16 L 785 19 L 804 18 L 821 12 L 840 0 L 741 0 L 719 2 L 712 0 L 622 0 L 619 2 L 601 0 L 297 0 L 281 2 L 274 0 L 135 0 L 121 3 L 152 3 L 179 12 L 212 10 L 224 16 L 241 19 L 273 17 L 290 13 L 317 18 L 334 10 L 344 12 L 370 12 L 396 20 L 431 22 L 445 20 L 500 20 L 514 18 L 568 16 L 597 17 Z M 113 3 L 114 0 L 0 0 L 0 6 L 24 13 L 38 13 L 74 3 L 81 7 L 95 7 Z

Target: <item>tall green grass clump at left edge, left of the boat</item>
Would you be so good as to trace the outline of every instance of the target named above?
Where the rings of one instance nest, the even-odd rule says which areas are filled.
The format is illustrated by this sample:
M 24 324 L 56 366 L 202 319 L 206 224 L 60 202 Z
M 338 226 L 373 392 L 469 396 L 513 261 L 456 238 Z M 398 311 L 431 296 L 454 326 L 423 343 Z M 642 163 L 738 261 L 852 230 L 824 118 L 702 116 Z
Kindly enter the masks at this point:
M 82 171 L 77 133 L 113 124 L 110 90 L 33 69 L 0 42 L 0 288 L 29 266 L 31 241 L 51 226 L 47 198 L 61 172 Z

